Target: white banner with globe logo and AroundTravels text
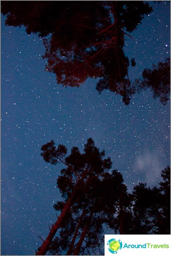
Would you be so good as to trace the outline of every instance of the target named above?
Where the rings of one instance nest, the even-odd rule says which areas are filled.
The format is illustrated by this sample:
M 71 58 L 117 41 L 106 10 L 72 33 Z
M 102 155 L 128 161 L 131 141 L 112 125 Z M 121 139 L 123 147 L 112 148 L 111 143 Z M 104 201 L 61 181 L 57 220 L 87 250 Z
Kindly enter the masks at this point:
M 171 255 L 171 235 L 105 235 L 105 256 Z

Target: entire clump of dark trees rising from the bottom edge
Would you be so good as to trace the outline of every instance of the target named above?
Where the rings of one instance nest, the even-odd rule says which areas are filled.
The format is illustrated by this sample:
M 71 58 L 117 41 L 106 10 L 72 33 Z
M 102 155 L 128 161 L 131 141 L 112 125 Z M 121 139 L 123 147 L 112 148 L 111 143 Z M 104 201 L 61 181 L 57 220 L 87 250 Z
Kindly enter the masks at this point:
M 120 234 L 170 232 L 170 167 L 162 171 L 163 181 L 158 187 L 139 183 L 133 193 L 128 193 L 122 173 L 110 170 L 110 158 L 104 158 L 105 151 L 100 152 L 91 138 L 83 153 L 73 147 L 66 156 L 67 148 L 61 144 L 55 147 L 53 140 L 41 150 L 46 162 L 65 165 L 57 177 L 64 200 L 54 205 L 58 219 L 49 227 L 37 255 L 101 253 L 105 225 Z

